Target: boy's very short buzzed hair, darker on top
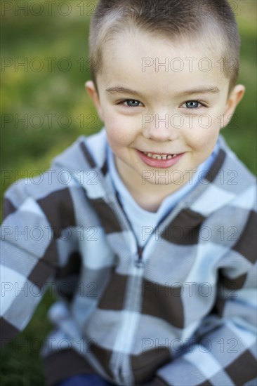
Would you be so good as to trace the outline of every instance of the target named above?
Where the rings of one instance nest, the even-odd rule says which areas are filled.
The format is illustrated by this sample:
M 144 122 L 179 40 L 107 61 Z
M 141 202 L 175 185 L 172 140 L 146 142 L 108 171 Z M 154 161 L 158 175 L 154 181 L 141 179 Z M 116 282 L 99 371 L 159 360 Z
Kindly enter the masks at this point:
M 103 47 L 126 29 L 171 39 L 208 36 L 211 45 L 221 43 L 220 70 L 229 79 L 229 93 L 235 87 L 240 38 L 228 0 L 100 0 L 89 35 L 91 75 L 96 90 L 96 76 L 103 67 Z

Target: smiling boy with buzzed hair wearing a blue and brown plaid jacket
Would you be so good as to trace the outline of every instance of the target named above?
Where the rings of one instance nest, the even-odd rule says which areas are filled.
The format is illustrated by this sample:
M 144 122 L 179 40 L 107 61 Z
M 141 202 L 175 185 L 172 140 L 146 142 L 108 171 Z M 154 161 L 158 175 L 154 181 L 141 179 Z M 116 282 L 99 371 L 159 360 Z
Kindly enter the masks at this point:
M 256 180 L 219 135 L 244 95 L 231 8 L 100 1 L 90 44 L 105 128 L 6 192 L 4 281 L 60 295 L 47 385 L 253 385 Z M 39 298 L 6 291 L 6 339 Z

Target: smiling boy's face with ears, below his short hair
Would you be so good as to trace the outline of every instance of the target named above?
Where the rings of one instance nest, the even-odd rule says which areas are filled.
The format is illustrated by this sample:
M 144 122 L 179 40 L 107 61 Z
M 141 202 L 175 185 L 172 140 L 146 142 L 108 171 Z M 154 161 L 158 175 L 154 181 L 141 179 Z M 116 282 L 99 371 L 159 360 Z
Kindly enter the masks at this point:
M 228 98 L 218 55 L 204 40 L 173 42 L 140 32 L 105 46 L 99 94 L 91 81 L 86 88 L 127 187 L 174 192 L 209 157 L 244 94 L 237 85 Z M 154 159 L 143 152 L 179 155 Z

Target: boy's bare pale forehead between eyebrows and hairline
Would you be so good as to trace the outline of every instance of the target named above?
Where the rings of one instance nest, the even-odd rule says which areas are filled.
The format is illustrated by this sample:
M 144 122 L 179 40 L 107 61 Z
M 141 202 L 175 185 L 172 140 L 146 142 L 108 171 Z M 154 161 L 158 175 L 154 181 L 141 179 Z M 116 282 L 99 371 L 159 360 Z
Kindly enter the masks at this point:
M 217 45 L 208 39 L 197 42 L 139 32 L 118 34 L 103 48 L 102 81 L 105 86 L 131 81 L 148 86 L 154 82 L 165 86 L 166 81 L 222 84 L 225 76 Z

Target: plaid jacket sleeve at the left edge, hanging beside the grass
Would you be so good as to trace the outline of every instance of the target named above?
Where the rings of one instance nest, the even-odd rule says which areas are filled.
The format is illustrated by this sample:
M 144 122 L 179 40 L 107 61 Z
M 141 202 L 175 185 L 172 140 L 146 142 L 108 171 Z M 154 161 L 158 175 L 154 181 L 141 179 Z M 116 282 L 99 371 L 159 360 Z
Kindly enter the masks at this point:
M 57 265 L 51 225 L 37 200 L 27 193 L 27 183 L 15 182 L 4 199 L 0 241 L 1 346 L 27 326 Z

